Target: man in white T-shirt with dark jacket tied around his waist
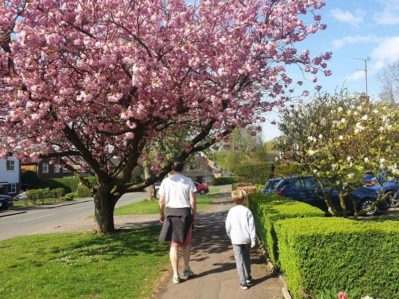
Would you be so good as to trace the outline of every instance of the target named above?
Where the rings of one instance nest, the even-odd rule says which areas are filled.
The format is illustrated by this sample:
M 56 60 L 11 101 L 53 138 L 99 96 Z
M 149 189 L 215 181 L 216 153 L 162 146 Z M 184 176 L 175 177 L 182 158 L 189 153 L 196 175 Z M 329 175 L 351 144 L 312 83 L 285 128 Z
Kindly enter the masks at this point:
M 196 222 L 197 202 L 194 193 L 196 186 L 191 178 L 182 174 L 183 160 L 177 158 L 172 165 L 174 174 L 165 178 L 159 188 L 160 221 L 163 223 L 158 241 L 169 241 L 170 259 L 173 269 L 173 283 L 180 283 L 179 246 L 183 247 L 183 276 L 194 275 L 191 271 L 191 234 Z M 166 206 L 166 215 L 164 209 Z

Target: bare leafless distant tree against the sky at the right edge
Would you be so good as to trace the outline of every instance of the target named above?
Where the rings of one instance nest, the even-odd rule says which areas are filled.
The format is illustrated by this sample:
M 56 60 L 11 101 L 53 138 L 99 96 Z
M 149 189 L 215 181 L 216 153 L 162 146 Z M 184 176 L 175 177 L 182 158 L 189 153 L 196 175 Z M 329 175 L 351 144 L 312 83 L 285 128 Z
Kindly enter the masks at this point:
M 380 84 L 380 98 L 390 103 L 399 102 L 399 59 L 388 64 L 377 73 L 377 82 Z

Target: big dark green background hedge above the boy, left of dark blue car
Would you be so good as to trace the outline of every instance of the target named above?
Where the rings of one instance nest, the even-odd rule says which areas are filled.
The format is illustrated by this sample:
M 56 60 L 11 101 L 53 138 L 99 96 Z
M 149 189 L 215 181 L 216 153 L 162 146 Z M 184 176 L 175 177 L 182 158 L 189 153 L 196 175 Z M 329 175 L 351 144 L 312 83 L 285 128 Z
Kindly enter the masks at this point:
M 235 174 L 240 181 L 251 184 L 264 185 L 267 180 L 273 177 L 274 164 L 272 162 L 244 163 L 237 167 Z

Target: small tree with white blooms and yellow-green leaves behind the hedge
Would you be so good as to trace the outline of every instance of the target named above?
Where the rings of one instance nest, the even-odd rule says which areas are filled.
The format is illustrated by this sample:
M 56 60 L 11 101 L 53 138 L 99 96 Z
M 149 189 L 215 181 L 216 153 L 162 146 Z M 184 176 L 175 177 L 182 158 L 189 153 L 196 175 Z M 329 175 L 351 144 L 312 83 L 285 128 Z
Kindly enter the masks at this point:
M 331 215 L 347 217 L 346 205 L 352 202 L 357 218 L 398 189 L 384 192 L 383 183 L 395 180 L 398 186 L 398 117 L 399 111 L 388 104 L 370 104 L 357 94 L 319 94 L 306 104 L 285 110 L 279 124 L 284 135 L 278 148 L 286 159 L 300 163 L 303 175 L 314 175 L 318 182 L 315 195 L 325 201 Z M 385 172 L 385 180 L 380 180 L 377 201 L 363 210 L 351 191 L 361 187 L 366 170 L 376 174 L 390 171 Z M 342 214 L 332 201 L 337 191 Z

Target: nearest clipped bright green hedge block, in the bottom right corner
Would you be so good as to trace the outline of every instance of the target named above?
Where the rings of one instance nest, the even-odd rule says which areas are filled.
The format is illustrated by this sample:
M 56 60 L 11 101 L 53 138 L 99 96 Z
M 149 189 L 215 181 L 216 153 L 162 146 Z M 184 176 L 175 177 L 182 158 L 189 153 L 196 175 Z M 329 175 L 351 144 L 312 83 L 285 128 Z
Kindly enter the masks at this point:
M 399 298 L 399 222 L 287 219 L 276 222 L 275 231 L 294 299 L 334 286 L 362 297 Z

